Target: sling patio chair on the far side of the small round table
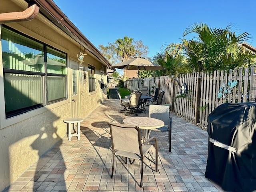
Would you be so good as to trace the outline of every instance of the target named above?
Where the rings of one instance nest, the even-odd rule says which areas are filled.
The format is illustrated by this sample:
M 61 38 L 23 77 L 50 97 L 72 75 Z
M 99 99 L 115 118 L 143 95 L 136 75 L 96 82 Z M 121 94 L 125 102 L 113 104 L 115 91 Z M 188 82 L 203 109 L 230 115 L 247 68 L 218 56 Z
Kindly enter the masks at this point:
M 172 118 L 170 117 L 170 107 L 166 105 L 150 105 L 149 117 L 162 120 L 164 126 L 154 131 L 168 131 L 169 152 L 171 152 L 172 141 Z

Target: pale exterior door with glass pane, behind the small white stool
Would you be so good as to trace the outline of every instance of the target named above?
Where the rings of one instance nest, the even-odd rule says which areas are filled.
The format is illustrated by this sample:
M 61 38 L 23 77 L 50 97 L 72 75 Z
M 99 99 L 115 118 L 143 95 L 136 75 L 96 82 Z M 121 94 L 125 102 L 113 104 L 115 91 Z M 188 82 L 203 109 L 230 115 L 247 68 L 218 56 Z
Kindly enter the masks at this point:
M 80 88 L 78 62 L 70 60 L 71 68 L 71 117 L 80 117 Z

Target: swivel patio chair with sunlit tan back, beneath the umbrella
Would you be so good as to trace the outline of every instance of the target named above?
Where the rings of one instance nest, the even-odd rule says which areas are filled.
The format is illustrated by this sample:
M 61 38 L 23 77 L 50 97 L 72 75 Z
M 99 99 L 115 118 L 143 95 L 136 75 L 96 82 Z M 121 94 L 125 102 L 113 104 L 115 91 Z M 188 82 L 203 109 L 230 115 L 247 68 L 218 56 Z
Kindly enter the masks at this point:
M 129 113 L 125 114 L 126 116 L 138 116 L 138 114 L 134 113 L 134 110 L 139 108 L 141 94 L 140 92 L 131 93 L 129 102 L 124 102 L 124 106 L 129 110 Z

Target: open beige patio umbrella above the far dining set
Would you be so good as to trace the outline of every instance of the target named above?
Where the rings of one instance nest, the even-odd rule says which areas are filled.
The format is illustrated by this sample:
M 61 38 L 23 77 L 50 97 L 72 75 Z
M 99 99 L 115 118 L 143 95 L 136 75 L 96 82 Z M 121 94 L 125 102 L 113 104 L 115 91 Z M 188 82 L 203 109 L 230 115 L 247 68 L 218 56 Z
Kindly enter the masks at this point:
M 158 64 L 154 64 L 151 61 L 145 58 L 133 58 L 116 65 L 112 65 L 114 68 L 118 69 L 128 69 L 128 70 L 138 70 L 138 78 L 140 74 L 140 70 L 153 71 L 153 70 L 164 70 L 162 66 Z M 138 84 L 139 88 L 139 84 Z

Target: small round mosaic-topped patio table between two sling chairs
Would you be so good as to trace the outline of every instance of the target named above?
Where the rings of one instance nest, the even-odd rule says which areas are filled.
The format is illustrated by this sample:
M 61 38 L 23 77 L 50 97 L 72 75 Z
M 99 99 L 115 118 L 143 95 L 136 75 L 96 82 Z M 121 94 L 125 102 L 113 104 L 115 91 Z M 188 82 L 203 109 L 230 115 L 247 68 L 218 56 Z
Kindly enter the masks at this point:
M 149 139 L 152 129 L 161 128 L 164 126 L 164 122 L 159 119 L 150 117 L 129 117 L 123 120 L 124 124 L 130 126 L 138 126 L 143 130 L 142 140 L 146 141 Z

